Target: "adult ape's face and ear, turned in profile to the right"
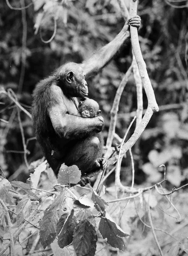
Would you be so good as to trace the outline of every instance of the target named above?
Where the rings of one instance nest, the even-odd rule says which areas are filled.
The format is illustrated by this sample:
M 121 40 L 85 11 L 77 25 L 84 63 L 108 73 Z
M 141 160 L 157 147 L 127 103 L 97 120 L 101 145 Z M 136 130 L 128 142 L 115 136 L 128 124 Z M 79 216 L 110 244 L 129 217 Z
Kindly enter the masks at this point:
M 88 96 L 85 73 L 79 64 L 74 64 L 71 71 L 66 74 L 66 89 L 68 90 L 68 96 L 71 97 Z

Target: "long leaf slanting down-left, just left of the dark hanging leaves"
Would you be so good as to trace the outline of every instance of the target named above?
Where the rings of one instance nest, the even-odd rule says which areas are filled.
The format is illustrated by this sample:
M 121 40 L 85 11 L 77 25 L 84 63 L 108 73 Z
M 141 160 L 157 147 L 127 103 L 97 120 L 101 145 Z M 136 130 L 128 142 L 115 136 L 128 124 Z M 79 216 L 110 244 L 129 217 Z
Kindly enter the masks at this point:
M 62 207 L 65 200 L 65 192 L 62 191 L 54 202 L 45 212 L 42 221 L 40 222 L 40 241 L 44 249 L 51 244 L 56 237 L 56 226 L 58 221 L 58 210 Z

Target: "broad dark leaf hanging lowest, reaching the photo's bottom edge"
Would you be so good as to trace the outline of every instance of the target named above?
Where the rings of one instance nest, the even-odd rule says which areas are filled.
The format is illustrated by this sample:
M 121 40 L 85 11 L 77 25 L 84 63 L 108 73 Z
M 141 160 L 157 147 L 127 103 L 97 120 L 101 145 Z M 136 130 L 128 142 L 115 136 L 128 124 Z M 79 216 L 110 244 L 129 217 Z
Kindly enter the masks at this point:
M 73 245 L 77 256 L 89 253 L 96 248 L 97 232 L 95 227 L 87 219 L 79 222 L 74 230 Z M 93 254 L 94 255 L 94 254 Z

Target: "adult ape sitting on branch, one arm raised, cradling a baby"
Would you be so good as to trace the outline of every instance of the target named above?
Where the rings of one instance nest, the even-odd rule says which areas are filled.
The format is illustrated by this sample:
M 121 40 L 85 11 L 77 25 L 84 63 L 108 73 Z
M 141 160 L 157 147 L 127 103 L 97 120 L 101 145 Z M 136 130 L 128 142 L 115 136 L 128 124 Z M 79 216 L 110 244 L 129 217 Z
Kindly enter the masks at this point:
M 88 95 L 85 77 L 97 74 L 114 57 L 122 44 L 130 37 L 129 25 L 140 27 L 140 17 L 128 20 L 121 32 L 109 44 L 96 52 L 82 64 L 68 63 L 58 68 L 51 76 L 41 80 L 33 93 L 33 122 L 38 142 L 49 165 L 57 175 L 66 157 L 68 165 L 84 166 L 94 162 L 92 148 L 99 147 L 99 140 L 92 136 L 102 131 L 103 117 L 82 118 L 78 113 L 76 97 Z M 72 149 L 85 145 L 84 151 Z M 56 154 L 59 152 L 58 154 Z M 101 163 L 102 165 L 102 163 Z M 94 165 L 91 172 L 99 167 Z

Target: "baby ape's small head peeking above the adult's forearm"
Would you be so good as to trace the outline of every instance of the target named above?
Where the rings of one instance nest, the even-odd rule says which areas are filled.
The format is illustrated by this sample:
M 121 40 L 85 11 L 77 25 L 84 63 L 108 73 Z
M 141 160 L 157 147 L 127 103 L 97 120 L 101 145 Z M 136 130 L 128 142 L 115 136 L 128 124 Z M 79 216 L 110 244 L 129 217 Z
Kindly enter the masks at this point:
M 78 111 L 82 117 L 95 117 L 100 115 L 99 104 L 93 99 L 82 98 L 78 105 Z

